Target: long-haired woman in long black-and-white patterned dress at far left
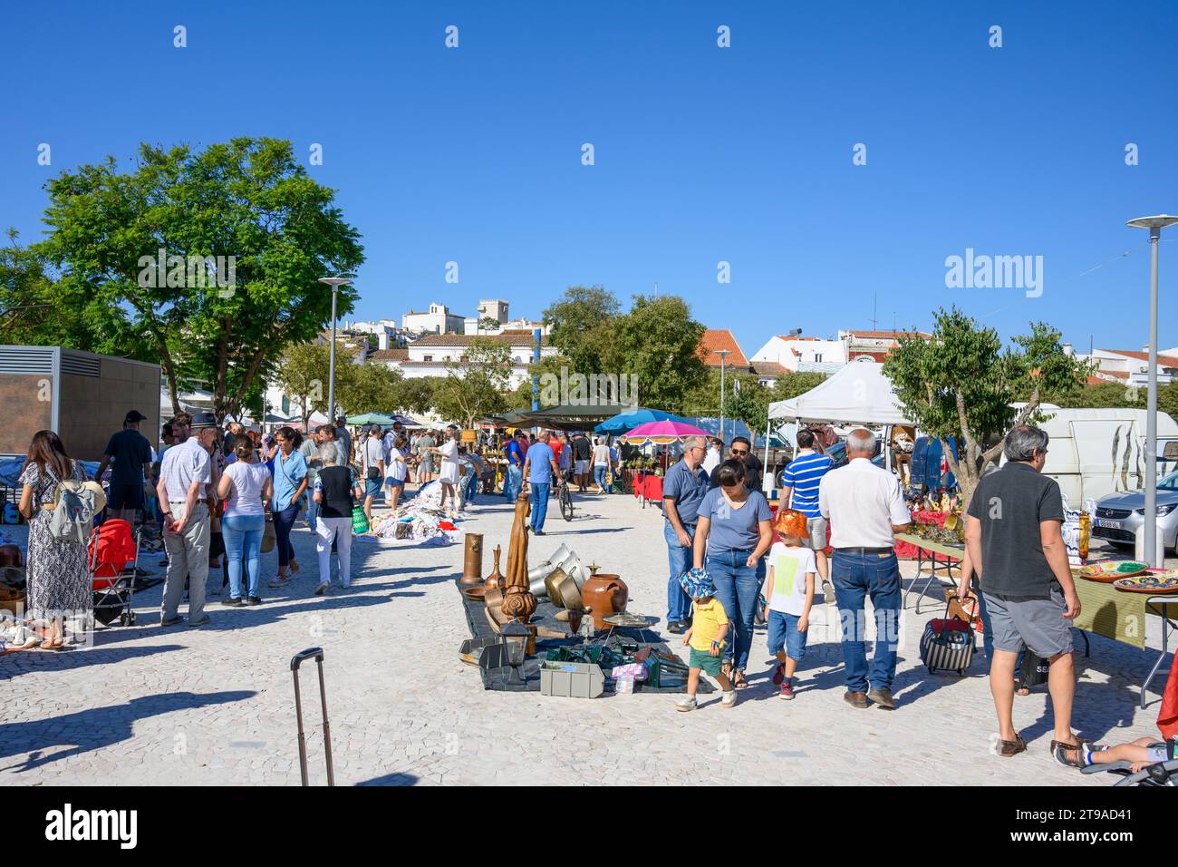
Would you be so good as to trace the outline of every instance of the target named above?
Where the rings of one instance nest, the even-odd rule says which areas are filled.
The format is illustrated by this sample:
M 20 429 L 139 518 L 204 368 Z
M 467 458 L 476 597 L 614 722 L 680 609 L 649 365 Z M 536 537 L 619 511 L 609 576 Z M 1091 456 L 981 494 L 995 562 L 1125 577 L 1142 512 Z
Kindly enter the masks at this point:
M 90 632 L 94 617 L 86 545 L 49 536 L 52 512 L 41 507 L 58 499 L 62 479 L 86 481 L 86 471 L 66 454 L 55 433 L 38 431 L 20 474 L 20 513 L 28 519 L 26 607 L 29 619 L 47 622 L 41 646 L 49 650 L 65 646 L 67 619 L 73 629 Z

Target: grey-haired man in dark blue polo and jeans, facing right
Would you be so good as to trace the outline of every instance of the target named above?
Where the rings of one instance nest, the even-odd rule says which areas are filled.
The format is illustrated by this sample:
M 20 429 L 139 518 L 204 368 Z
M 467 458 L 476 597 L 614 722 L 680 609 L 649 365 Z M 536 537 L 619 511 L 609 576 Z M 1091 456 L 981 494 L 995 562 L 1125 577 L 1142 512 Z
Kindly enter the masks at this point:
M 663 479 L 663 538 L 670 578 L 667 582 L 667 631 L 681 635 L 690 625 L 691 599 L 679 577 L 691 567 L 691 546 L 695 544 L 695 523 L 703 495 L 712 488 L 712 480 L 701 466 L 708 451 L 706 436 L 683 440 L 683 459 L 667 471 Z

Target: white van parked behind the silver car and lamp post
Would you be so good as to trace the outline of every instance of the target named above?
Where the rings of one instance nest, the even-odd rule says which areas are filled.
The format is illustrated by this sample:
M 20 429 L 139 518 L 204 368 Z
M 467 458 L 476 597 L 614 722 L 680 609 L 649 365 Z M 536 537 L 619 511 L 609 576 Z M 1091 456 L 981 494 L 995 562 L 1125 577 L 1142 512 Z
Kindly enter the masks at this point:
M 1059 409 L 1039 426 L 1051 436 L 1044 475 L 1059 482 L 1071 508 L 1086 499 L 1143 487 L 1144 409 Z M 1002 460 L 1005 462 L 1005 459 Z M 1178 467 L 1178 423 L 1158 413 L 1158 479 Z

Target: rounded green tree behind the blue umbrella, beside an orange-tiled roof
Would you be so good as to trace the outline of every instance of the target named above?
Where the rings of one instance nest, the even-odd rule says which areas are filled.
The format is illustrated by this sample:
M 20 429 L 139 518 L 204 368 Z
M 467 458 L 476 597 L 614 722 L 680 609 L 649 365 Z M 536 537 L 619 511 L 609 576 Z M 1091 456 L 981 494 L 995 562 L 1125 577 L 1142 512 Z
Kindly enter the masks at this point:
M 687 302 L 674 295 L 635 295 L 613 330 L 603 369 L 636 374 L 643 406 L 683 413 L 707 377 L 697 354 L 704 328 L 691 318 Z

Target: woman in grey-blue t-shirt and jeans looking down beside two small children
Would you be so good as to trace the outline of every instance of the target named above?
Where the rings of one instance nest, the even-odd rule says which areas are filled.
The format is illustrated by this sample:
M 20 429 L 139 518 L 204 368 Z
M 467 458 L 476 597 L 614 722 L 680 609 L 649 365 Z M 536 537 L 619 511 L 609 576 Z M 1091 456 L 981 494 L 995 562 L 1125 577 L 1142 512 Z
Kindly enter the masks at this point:
M 720 486 L 712 488 L 700 504 L 695 567 L 703 566 L 707 554 L 716 598 L 736 626 L 736 641 L 724 649 L 728 666 L 724 674 L 733 678 L 736 689 L 747 689 L 744 666 L 753 646 L 753 615 L 761 590 L 756 564 L 773 544 L 769 526 L 773 513 L 765 494 L 744 487 L 741 461 L 734 459 L 721 464 L 719 481 Z

